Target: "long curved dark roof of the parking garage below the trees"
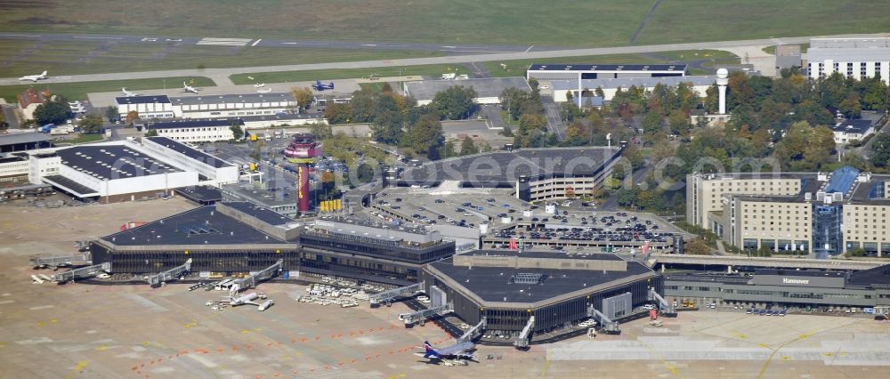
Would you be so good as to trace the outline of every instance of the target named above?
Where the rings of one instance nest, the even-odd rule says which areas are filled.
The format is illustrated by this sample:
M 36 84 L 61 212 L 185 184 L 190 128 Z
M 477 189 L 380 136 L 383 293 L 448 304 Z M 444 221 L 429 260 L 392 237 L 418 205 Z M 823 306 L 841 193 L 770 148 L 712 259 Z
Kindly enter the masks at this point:
M 514 185 L 520 176 L 537 180 L 541 175 L 551 174 L 590 175 L 600 170 L 603 163 L 618 151 L 619 148 L 594 147 L 485 153 L 413 167 L 401 174 L 401 180 L 418 183 L 451 180 Z

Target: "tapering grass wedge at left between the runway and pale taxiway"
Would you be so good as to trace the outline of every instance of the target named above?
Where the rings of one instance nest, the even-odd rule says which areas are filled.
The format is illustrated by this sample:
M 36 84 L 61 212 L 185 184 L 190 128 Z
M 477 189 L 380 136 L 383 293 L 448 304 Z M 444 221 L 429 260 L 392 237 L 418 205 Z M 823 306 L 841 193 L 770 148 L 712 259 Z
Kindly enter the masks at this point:
M 383 60 L 441 56 L 444 52 L 303 49 L 192 44 L 104 44 L 7 41 L 0 44 L 0 77 L 158 69 L 214 69 L 348 60 Z

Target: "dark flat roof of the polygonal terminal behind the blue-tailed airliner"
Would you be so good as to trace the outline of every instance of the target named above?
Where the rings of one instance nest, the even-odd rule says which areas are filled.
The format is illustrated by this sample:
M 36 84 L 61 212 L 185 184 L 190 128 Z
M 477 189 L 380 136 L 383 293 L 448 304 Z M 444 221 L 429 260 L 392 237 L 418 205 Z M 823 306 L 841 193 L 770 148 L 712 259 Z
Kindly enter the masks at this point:
M 461 286 L 465 286 L 466 289 L 486 302 L 540 302 L 614 280 L 654 273 L 643 264 L 632 261 L 627 262 L 626 271 L 513 269 L 481 266 L 473 266 L 470 269 L 469 267 L 455 266 L 452 262 L 453 258 L 448 258 L 430 263 L 430 265 Z M 546 278 L 541 284 L 511 283 L 514 275 L 520 273 L 542 274 Z

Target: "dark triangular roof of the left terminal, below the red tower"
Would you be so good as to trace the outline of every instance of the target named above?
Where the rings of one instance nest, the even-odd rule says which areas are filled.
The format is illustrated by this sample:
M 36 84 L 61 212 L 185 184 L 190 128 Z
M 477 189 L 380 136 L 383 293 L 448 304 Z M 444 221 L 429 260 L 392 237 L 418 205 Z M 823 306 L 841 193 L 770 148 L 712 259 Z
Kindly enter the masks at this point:
M 119 246 L 287 244 L 217 212 L 215 206 L 201 206 L 102 239 Z

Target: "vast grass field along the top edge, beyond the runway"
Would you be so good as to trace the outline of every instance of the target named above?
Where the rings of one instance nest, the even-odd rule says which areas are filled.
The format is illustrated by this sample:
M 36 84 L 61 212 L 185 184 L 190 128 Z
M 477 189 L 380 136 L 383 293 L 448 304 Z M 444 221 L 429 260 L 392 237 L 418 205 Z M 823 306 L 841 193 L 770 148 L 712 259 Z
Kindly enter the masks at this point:
M 653 0 L 0 1 L 0 30 L 436 43 L 628 44 Z M 890 29 L 886 0 L 666 1 L 637 44 Z

